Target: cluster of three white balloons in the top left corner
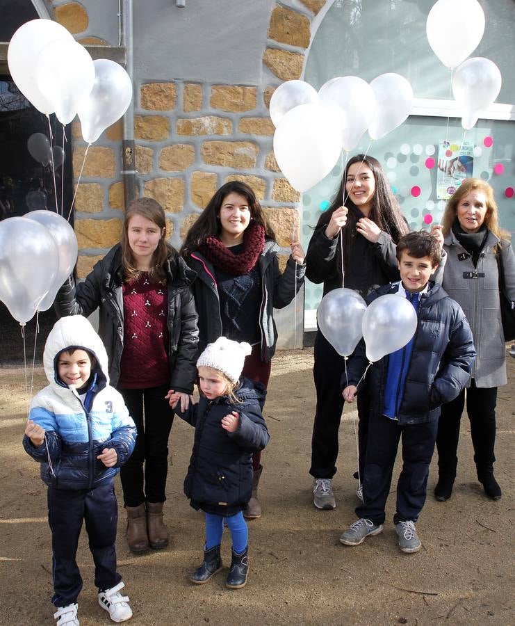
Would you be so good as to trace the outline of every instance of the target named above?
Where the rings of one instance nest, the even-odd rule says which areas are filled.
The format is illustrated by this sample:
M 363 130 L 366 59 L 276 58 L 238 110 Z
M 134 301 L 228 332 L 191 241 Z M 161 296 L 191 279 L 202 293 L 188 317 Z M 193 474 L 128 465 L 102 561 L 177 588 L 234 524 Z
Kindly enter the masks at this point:
M 124 68 L 93 61 L 73 35 L 51 19 L 22 24 L 10 40 L 7 62 L 13 81 L 38 111 L 55 113 L 63 124 L 79 115 L 84 141 L 97 141 L 119 120 L 132 99 Z

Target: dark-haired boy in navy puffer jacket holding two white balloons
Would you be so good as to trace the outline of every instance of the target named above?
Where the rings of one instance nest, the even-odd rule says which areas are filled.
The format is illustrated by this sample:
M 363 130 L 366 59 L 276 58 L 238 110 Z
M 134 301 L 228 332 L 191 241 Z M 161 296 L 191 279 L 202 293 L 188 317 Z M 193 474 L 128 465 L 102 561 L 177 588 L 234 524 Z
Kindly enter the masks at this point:
M 417 552 L 415 522 L 424 506 L 427 476 L 433 456 L 440 408 L 461 392 L 471 377 L 475 359 L 468 321 L 455 300 L 430 277 L 439 265 L 439 243 L 431 234 L 411 232 L 397 244 L 401 282 L 379 287 L 368 296 L 396 294 L 407 298 L 417 314 L 414 337 L 400 350 L 373 363 L 368 371 L 370 426 L 363 470 L 363 504 L 357 522 L 340 538 L 359 545 L 382 532 L 393 464 L 402 437 L 402 472 L 397 483 L 393 517 L 402 552 Z M 358 344 L 342 377 L 343 398 L 352 402 L 367 369 L 365 343 Z

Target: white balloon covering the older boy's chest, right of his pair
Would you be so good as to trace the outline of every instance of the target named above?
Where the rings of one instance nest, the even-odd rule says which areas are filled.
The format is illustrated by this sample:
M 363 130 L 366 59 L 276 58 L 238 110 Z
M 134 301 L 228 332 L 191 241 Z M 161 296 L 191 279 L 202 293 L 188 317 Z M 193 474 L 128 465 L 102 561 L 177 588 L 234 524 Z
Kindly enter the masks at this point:
M 416 326 L 417 315 L 409 300 L 396 294 L 379 296 L 363 315 L 366 358 L 374 363 L 400 350 L 411 340 Z

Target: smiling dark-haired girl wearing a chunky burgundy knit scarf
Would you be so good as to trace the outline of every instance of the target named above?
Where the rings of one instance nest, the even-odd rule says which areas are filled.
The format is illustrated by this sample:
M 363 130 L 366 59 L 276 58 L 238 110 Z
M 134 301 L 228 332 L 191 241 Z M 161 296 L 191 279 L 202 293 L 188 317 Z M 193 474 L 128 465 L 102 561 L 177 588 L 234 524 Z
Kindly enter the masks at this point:
M 199 315 L 199 353 L 220 336 L 252 345 L 242 375 L 265 387 L 275 352 L 273 309 L 286 307 L 304 282 L 304 251 L 291 243 L 281 274 L 275 234 L 252 188 L 240 181 L 220 187 L 186 234 L 181 255 L 197 272 L 193 282 Z M 243 515 L 261 516 L 257 488 L 261 453 L 252 459 L 252 499 Z

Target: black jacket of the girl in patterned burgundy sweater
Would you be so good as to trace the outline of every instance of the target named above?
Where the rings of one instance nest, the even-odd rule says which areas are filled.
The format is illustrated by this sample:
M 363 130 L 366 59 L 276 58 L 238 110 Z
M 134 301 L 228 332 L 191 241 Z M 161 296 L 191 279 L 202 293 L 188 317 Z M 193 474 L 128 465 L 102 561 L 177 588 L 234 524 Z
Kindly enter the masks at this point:
M 170 251 L 165 264 L 168 294 L 168 362 L 170 389 L 193 393 L 197 377 L 195 367 L 198 328 L 195 301 L 190 284 L 195 272 L 183 262 L 177 252 Z M 89 316 L 99 309 L 99 335 L 109 358 L 111 385 L 120 378 L 120 360 L 124 348 L 124 305 L 122 294 L 122 248 L 111 248 L 84 282 L 66 282 L 58 291 L 54 304 L 58 316 Z

